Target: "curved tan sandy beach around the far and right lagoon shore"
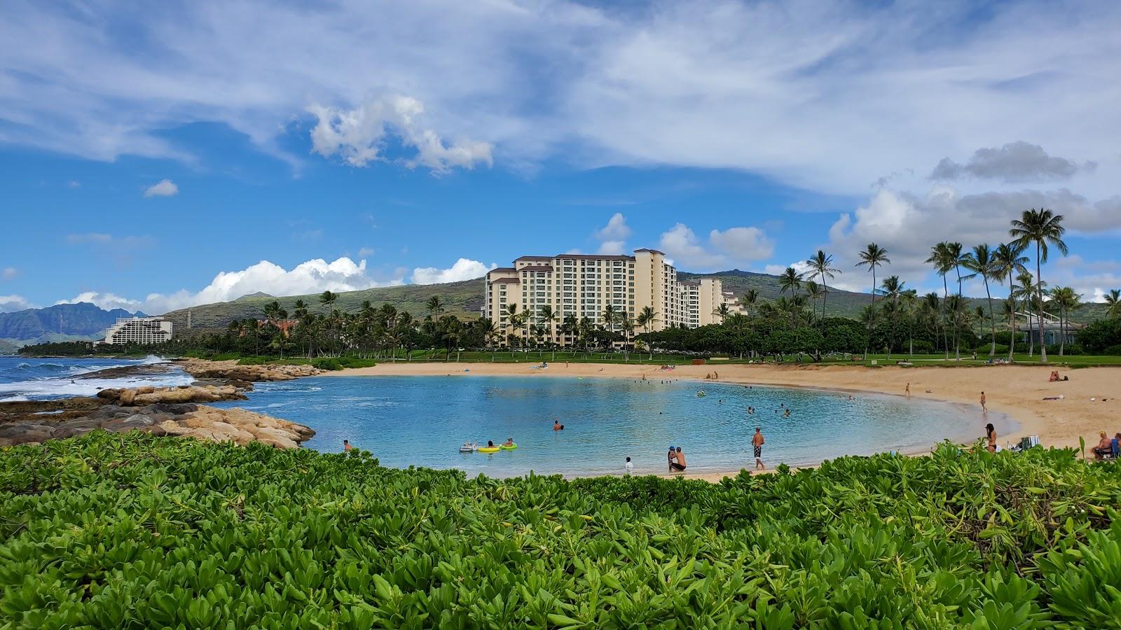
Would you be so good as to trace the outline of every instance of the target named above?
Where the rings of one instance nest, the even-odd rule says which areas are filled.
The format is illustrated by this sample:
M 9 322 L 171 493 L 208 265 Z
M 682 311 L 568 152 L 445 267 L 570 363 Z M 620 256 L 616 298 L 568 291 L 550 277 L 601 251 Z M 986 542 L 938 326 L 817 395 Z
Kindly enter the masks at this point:
M 537 362 L 525 363 L 382 363 L 373 368 L 328 372 L 332 377 L 354 376 L 433 376 L 471 378 L 478 376 L 519 376 L 530 378 L 584 377 L 677 379 L 704 381 L 716 372 L 719 382 L 809 387 L 849 391 L 905 395 L 907 383 L 915 398 L 974 405 L 980 407 L 981 392 L 988 398 L 990 411 L 1006 414 L 1019 430 L 1000 436 L 999 442 L 1019 442 L 1025 435 L 1038 435 L 1044 446 L 1077 446 L 1084 437 L 1086 450 L 1097 443 L 1097 432 L 1110 435 L 1121 430 L 1121 368 L 1059 369 L 1071 380 L 1048 382 L 1053 365 L 969 365 L 867 368 L 856 365 L 773 365 L 733 363 L 721 365 L 677 365 L 663 371 L 658 365 L 618 363 L 549 363 L 546 369 L 532 369 Z M 470 371 L 464 371 L 470 370 Z M 1045 400 L 1062 396 L 1060 400 Z M 981 436 L 979 429 L 978 436 Z M 687 475 L 717 480 L 738 471 L 716 474 Z

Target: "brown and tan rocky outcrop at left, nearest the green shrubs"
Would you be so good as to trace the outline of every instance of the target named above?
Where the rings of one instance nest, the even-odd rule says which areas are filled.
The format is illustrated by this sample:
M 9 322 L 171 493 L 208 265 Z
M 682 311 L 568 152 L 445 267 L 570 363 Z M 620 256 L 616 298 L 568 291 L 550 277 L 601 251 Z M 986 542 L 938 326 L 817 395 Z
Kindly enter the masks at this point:
M 179 435 L 209 442 L 261 442 L 295 448 L 311 428 L 244 409 L 200 405 L 243 400 L 233 386 L 105 389 L 96 398 L 0 402 L 0 446 L 37 444 L 95 429 Z

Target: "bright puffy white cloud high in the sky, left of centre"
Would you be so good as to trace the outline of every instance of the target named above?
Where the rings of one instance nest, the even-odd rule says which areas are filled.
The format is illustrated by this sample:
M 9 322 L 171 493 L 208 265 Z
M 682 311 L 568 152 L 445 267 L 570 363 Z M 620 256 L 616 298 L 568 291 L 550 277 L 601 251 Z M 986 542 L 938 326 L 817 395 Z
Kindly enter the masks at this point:
M 374 99 L 352 110 L 316 103 L 307 111 L 318 121 L 312 129 L 312 150 L 323 157 L 337 155 L 352 166 L 386 159 L 391 138 L 415 150 L 411 158 L 404 160 L 409 168 L 424 166 L 443 173 L 453 167 L 470 169 L 476 164 L 494 163 L 489 142 L 464 138 L 448 145 L 434 130 L 420 127 L 424 104 L 410 96 Z

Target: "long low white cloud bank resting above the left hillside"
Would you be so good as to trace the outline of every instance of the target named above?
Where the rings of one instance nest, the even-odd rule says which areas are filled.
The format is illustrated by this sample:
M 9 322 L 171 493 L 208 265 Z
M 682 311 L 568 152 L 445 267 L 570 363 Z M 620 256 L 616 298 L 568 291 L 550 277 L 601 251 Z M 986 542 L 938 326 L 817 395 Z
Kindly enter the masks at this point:
M 85 291 L 73 299 L 57 304 L 90 302 L 102 308 L 141 309 L 149 314 L 160 314 L 176 308 L 228 302 L 243 295 L 263 291 L 276 296 L 303 295 L 331 291 L 352 291 L 378 286 L 404 284 L 402 278 L 378 281 L 365 270 L 365 261 L 355 263 L 350 258 L 339 258 L 327 262 L 322 258 L 302 262 L 290 270 L 262 260 L 240 271 L 222 271 L 211 284 L 197 293 L 186 289 L 174 294 L 149 294 L 143 299 L 131 299 L 112 293 Z

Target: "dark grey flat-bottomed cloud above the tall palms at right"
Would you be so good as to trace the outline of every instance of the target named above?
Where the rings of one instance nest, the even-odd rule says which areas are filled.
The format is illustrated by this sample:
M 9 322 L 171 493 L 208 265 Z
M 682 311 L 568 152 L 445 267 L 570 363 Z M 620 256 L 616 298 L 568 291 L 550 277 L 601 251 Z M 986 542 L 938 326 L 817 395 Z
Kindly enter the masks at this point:
M 930 179 L 999 179 L 1007 183 L 1069 179 L 1080 170 L 1093 170 L 1097 163 L 1078 164 L 1074 160 L 1049 156 L 1039 145 L 1022 140 L 1009 142 L 1000 148 L 982 148 L 974 151 L 966 164 L 957 164 L 947 158 L 934 167 Z

